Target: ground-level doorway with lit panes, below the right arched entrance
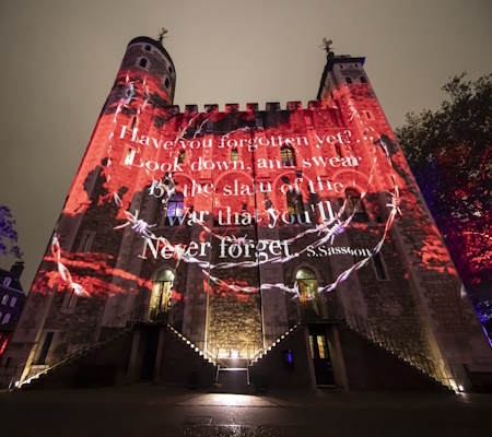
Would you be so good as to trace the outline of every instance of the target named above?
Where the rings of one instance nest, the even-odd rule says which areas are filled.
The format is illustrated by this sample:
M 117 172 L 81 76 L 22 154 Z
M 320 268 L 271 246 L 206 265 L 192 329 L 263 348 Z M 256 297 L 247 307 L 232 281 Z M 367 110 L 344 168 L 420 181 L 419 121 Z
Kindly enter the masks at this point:
M 316 385 L 318 387 L 335 386 L 333 368 L 323 326 L 309 326 L 309 349 L 315 368 Z

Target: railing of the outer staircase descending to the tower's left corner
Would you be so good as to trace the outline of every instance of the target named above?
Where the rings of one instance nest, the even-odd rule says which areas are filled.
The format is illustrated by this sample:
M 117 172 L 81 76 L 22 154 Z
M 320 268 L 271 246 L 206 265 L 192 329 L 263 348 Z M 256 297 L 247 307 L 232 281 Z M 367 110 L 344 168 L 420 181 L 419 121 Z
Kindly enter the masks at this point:
M 115 317 L 114 319 L 102 324 L 98 332 L 94 330 L 89 332 L 85 336 L 78 336 L 77 339 L 73 339 L 73 343 L 62 351 L 55 349 L 51 352 L 47 351 L 45 353 L 44 345 L 42 343 L 36 343 L 31 350 L 30 356 L 33 358 L 30 364 L 28 373 L 19 382 L 19 387 L 31 382 L 31 380 L 38 378 L 43 374 L 47 374 L 55 367 L 58 367 L 73 357 L 85 353 L 98 344 L 115 339 L 125 328 L 143 321 L 149 321 L 148 305 L 140 305 L 133 308 L 130 312 Z M 19 369 L 23 369 L 26 364 L 28 364 L 28 361 L 16 366 L 16 370 L 12 376 L 9 388 L 11 388 L 15 375 L 19 375 Z

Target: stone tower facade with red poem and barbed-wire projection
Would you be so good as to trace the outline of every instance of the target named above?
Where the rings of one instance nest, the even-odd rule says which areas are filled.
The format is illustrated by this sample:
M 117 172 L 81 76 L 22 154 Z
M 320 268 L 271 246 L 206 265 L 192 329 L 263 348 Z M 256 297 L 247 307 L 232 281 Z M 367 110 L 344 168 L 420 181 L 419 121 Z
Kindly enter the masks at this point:
M 305 108 L 180 111 L 171 56 L 130 42 L 7 351 L 11 378 L 81 351 L 59 383 L 208 386 L 243 368 L 257 388 L 425 388 L 425 374 L 465 389 L 465 369 L 491 371 L 363 64 L 328 49 Z

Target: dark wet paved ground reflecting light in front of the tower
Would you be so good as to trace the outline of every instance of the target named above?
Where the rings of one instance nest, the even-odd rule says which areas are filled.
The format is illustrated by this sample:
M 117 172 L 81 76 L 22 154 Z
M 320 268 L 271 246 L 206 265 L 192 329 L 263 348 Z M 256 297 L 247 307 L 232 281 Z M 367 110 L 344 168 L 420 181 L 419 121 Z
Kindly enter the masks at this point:
M 161 386 L 0 393 L 0 436 L 480 436 L 490 394 L 270 391 L 203 393 Z

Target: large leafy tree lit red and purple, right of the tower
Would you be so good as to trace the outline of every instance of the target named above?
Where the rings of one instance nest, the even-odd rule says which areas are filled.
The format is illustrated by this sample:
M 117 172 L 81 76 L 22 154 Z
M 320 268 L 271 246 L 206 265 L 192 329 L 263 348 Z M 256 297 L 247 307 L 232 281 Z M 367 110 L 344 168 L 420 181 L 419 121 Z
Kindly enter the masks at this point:
M 396 130 L 477 312 L 492 333 L 492 75 L 443 86 L 436 111 Z

